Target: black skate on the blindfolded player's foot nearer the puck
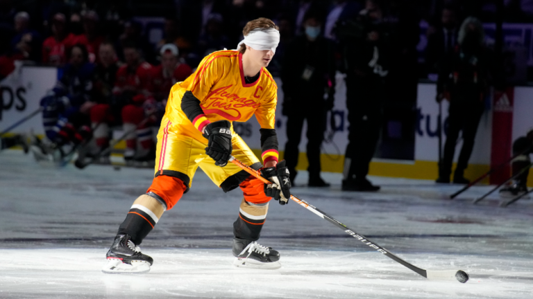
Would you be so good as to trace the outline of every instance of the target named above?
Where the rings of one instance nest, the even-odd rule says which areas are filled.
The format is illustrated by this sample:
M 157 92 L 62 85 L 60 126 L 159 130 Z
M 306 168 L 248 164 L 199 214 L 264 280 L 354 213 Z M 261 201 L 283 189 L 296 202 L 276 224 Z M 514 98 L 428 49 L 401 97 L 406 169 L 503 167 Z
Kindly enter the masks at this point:
M 233 238 L 233 265 L 253 269 L 279 269 L 280 253 L 255 241 Z

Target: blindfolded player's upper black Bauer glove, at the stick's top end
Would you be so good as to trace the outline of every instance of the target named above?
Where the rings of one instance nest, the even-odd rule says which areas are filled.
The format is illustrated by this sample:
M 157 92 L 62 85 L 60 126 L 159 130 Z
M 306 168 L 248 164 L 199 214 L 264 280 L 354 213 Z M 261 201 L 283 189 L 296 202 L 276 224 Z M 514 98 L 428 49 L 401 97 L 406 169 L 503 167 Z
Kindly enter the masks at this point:
M 205 126 L 203 136 L 208 139 L 208 154 L 215 162 L 214 165 L 224 167 L 228 164 L 233 147 L 231 145 L 231 123 L 228 120 L 219 120 Z

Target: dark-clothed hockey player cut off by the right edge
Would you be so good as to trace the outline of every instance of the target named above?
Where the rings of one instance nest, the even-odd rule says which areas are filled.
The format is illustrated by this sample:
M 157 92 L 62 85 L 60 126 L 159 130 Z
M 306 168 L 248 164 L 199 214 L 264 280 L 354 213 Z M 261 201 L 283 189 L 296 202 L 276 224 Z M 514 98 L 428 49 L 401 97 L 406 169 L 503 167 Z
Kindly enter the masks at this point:
M 530 154 L 533 153 L 533 127 L 529 129 L 526 136 L 522 136 L 516 139 L 513 143 L 513 155 L 518 154 L 516 158 L 511 162 L 511 170 L 513 176 L 522 172 L 526 167 L 530 167 L 531 158 Z M 530 170 L 525 170 L 522 174 L 519 174 L 510 185 L 500 189 L 500 195 L 502 197 L 517 197 L 527 192 L 527 175 L 530 174 Z

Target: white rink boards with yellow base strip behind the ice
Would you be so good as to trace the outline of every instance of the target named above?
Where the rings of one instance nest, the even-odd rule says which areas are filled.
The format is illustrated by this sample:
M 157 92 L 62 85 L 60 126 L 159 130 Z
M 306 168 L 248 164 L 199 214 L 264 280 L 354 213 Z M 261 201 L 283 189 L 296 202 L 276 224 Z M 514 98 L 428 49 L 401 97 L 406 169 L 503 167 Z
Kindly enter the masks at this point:
M 42 66 L 20 66 L 8 78 L 0 82 L 0 131 L 16 123 L 24 116 L 31 114 L 39 107 L 40 98 L 56 82 L 58 69 Z M 279 78 L 275 78 L 278 87 L 281 87 Z M 492 92 L 485 101 L 485 111 L 478 127 L 475 146 L 471 157 L 471 165 L 466 170 L 466 177 L 475 179 L 491 165 L 505 161 L 511 155 L 511 144 L 518 136 L 525 135 L 527 129 L 533 127 L 530 120 L 530 111 L 533 111 L 533 100 L 530 94 L 533 87 L 511 87 L 504 94 Z M 418 97 L 416 104 L 416 126 L 414 161 L 374 159 L 371 163 L 370 174 L 378 176 L 394 176 L 412 179 L 436 179 L 438 161 L 438 115 L 439 105 L 435 102 L 435 84 L 418 84 Z M 276 129 L 280 142 L 280 154 L 287 141 L 285 124 L 287 117 L 281 115 L 283 92 L 278 88 L 278 113 L 276 114 Z M 448 116 L 448 102 L 443 102 L 441 107 L 443 117 L 442 125 L 445 126 Z M 324 143 L 321 156 L 322 169 L 327 172 L 342 172 L 344 163 L 344 150 L 348 143 L 348 111 L 346 110 L 346 84 L 343 75 L 337 73 L 337 87 L 335 93 L 334 115 L 337 127 L 331 143 Z M 330 118 L 330 114 L 328 114 Z M 329 124 L 328 120 L 328 124 Z M 255 119 L 247 123 L 234 123 L 235 132 L 242 136 L 246 143 L 260 152 L 259 125 Z M 328 125 L 328 131 L 331 128 Z M 39 116 L 28 120 L 12 132 L 29 132 L 43 134 L 42 122 Z M 305 156 L 305 132 L 302 132 L 300 145 L 300 159 L 298 169 L 307 168 Z M 117 134 L 115 134 L 117 135 Z M 446 134 L 443 134 L 443 144 Z M 459 154 L 462 141 L 457 144 L 455 160 Z M 124 145 L 119 145 L 119 147 Z M 504 170 L 508 171 L 508 170 Z M 505 176 L 506 174 L 504 174 Z M 491 181 L 494 183 L 494 181 Z M 530 185 L 533 179 L 530 177 Z

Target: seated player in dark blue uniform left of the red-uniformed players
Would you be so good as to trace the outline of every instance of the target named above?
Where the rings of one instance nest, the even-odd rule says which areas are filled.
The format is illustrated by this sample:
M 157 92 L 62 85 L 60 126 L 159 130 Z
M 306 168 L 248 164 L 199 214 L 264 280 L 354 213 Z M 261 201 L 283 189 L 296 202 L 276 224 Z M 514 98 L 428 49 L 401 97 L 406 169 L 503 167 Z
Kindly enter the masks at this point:
M 87 48 L 76 44 L 67 51 L 69 62 L 56 86 L 41 100 L 42 120 L 46 137 L 51 141 L 36 155 L 69 154 L 72 145 L 82 143 L 91 134 L 89 109 L 94 64 L 88 60 Z M 65 148 L 66 147 L 66 148 Z

